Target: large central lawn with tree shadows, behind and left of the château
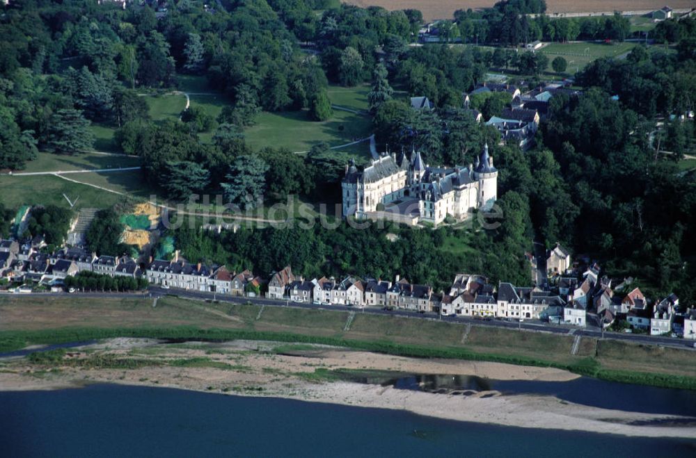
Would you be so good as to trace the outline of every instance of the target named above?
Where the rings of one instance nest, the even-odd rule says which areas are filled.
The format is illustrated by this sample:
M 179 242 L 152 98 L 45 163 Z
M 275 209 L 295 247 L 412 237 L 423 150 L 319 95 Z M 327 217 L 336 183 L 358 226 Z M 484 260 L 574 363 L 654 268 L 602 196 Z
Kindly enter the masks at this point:
M 333 117 L 325 122 L 308 120 L 306 111 L 264 112 L 245 133 L 254 149 L 270 146 L 303 152 L 321 141 L 338 146 L 370 136 L 371 124 L 369 117 L 347 111 L 334 110 Z

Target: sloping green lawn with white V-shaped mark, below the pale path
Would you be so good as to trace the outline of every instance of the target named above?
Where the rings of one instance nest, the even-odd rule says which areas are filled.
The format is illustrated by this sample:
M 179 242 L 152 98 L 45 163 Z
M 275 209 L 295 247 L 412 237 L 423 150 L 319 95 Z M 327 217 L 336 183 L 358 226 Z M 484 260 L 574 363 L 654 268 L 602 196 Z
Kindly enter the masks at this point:
M 81 174 L 80 178 L 94 175 Z M 118 202 L 124 202 L 125 197 L 106 193 L 105 191 L 84 186 L 51 175 L 30 177 L 0 176 L 0 202 L 10 208 L 20 205 L 58 205 L 68 207 L 68 201 L 63 193 L 75 200 L 79 197 L 75 208 L 106 208 Z

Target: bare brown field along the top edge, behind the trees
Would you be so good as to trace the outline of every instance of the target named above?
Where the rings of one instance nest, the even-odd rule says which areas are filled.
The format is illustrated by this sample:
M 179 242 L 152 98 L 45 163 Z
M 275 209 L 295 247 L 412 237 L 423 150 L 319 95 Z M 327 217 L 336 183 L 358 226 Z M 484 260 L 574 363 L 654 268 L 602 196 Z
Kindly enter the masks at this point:
M 467 8 L 491 8 L 498 0 L 343 0 L 362 7 L 381 6 L 388 10 L 413 8 L 423 13 L 425 20 L 450 19 L 456 10 Z M 691 0 L 672 0 L 670 7 L 676 9 L 693 8 Z M 640 11 L 658 10 L 665 6 L 663 0 L 546 0 L 546 13 L 593 13 L 601 11 Z

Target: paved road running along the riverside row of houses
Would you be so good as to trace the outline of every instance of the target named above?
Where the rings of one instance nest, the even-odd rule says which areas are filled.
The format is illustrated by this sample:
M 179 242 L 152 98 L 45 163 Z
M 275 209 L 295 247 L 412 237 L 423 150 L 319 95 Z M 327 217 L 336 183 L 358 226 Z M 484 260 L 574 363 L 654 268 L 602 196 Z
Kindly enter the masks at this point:
M 61 296 L 67 293 L 31 293 L 31 295 L 26 294 L 26 296 Z M 7 294 L 10 295 L 10 294 Z M 222 296 L 214 295 L 214 293 L 207 293 L 203 291 L 184 291 L 178 289 L 164 289 L 158 286 L 150 286 L 147 293 L 74 293 L 74 297 L 161 297 L 164 295 L 176 295 L 178 297 L 184 297 L 189 299 L 198 300 L 212 300 L 213 298 L 219 302 L 228 302 L 230 304 L 246 304 L 251 302 L 256 305 L 264 306 L 278 306 L 278 307 L 294 307 L 296 309 L 322 309 L 322 310 L 335 310 L 335 311 L 355 311 L 356 313 L 370 313 L 372 315 L 381 316 L 401 316 L 405 318 L 413 318 L 420 320 L 440 320 L 444 322 L 460 323 L 460 324 L 471 324 L 475 326 L 482 327 L 498 327 L 507 329 L 519 329 L 521 331 L 527 332 L 550 332 L 552 334 L 567 334 L 573 336 L 587 336 L 594 338 L 601 338 L 602 332 L 599 327 L 586 327 L 578 328 L 567 325 L 552 325 L 547 322 L 541 322 L 538 320 L 524 320 L 523 322 L 517 321 L 506 321 L 506 320 L 482 320 L 471 317 L 464 316 L 438 316 L 438 313 L 416 313 L 412 311 L 405 310 L 383 310 L 368 307 L 365 309 L 356 308 L 354 306 L 345 305 L 315 305 L 315 304 L 301 304 L 296 302 L 290 302 L 288 300 L 276 300 L 268 299 L 266 297 L 234 297 L 234 296 Z M 19 294 L 17 294 L 19 296 Z M 617 332 L 605 332 L 604 338 L 612 339 L 615 341 L 626 341 L 633 343 L 640 343 L 643 345 L 665 345 L 668 347 L 677 348 L 690 348 L 693 350 L 693 341 L 682 340 L 678 338 L 669 338 L 661 336 L 647 336 L 644 334 L 622 334 Z

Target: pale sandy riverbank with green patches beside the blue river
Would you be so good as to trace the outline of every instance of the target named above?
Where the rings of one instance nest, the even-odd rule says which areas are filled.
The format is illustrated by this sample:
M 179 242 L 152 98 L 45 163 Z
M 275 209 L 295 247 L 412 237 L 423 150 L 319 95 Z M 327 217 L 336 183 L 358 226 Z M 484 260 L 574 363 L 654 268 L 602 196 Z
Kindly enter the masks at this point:
M 278 344 L 280 345 L 280 344 Z M 598 409 L 542 395 L 500 395 L 497 391 L 447 395 L 352 382 L 313 381 L 315 370 L 380 370 L 400 373 L 472 375 L 489 379 L 564 382 L 578 377 L 555 368 L 502 363 L 413 359 L 334 347 L 283 347 L 235 341 L 222 344 L 162 345 L 145 339 L 113 339 L 70 350 L 56 370 L 26 359 L 3 361 L 0 390 L 63 389 L 85 383 L 166 386 L 235 395 L 262 395 L 310 402 L 408 410 L 477 423 L 535 427 L 627 436 L 688 437 L 696 428 L 636 426 L 627 423 L 674 416 Z M 142 367 L 122 369 L 85 364 L 96 359 L 134 359 Z M 148 365 L 148 361 L 152 365 Z M 173 366 L 191 361 L 202 366 Z

